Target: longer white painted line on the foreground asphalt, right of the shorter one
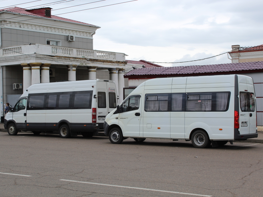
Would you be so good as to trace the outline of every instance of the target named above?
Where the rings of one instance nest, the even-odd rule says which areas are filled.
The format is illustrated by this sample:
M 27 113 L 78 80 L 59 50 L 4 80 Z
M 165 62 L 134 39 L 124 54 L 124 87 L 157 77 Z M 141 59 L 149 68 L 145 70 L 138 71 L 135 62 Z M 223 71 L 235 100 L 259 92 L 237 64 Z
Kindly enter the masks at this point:
M 102 184 L 102 183 L 93 183 L 93 182 L 84 182 L 84 181 L 73 181 L 73 180 L 66 180 L 66 179 L 60 179 L 60 181 L 69 181 L 69 182 L 87 183 L 87 184 L 93 184 L 93 185 L 104 185 L 104 186 L 113 186 L 113 187 L 124 187 L 124 188 L 131 188 L 131 189 L 137 189 L 137 190 L 161 191 L 161 192 L 174 193 L 174 194 L 186 194 L 186 195 L 193 195 L 193 196 L 206 196 L 206 197 L 211 197 L 211 196 L 209 196 L 209 195 L 183 193 L 183 192 L 178 192 L 178 191 L 154 190 L 154 189 L 147 189 L 147 188 L 140 188 L 140 187 L 129 187 L 129 186 L 120 186 L 120 185 L 109 185 L 109 184 Z

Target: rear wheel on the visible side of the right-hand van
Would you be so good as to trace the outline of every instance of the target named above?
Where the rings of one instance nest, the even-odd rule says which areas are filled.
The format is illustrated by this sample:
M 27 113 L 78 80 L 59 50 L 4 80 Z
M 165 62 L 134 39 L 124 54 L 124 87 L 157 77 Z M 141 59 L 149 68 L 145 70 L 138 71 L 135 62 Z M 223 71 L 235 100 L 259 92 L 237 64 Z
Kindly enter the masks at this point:
M 198 130 L 192 134 L 192 144 L 195 148 L 207 148 L 211 144 L 211 140 L 205 131 Z

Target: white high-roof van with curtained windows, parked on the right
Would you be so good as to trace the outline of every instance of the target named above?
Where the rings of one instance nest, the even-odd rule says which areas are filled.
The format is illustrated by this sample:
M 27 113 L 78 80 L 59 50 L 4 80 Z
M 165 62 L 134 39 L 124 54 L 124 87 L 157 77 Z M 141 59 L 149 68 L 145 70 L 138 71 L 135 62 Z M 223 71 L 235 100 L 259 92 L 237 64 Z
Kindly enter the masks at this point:
M 106 116 L 112 143 L 184 139 L 196 148 L 257 137 L 253 79 L 216 75 L 150 79 Z

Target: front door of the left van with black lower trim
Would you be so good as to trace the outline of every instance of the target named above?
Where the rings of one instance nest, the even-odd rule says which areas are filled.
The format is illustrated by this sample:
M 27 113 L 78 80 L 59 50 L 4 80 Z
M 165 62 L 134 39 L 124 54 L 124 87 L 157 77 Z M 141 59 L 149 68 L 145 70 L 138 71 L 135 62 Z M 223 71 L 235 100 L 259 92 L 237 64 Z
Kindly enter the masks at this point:
M 27 98 L 20 98 L 13 108 L 13 120 L 16 122 L 17 130 L 25 129 L 25 124 L 27 120 L 26 106 Z

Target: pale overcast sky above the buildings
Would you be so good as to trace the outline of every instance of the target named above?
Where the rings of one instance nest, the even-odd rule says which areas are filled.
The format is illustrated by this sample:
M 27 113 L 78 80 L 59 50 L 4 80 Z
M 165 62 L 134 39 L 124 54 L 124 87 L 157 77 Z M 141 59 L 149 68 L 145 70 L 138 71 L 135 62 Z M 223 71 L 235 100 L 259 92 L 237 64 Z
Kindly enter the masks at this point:
M 0 0 L 0 7 L 33 0 Z M 36 6 L 59 0 L 18 5 Z M 70 1 L 70 0 L 67 0 Z M 53 9 L 98 0 L 71 0 Z M 105 0 L 51 12 L 52 15 L 105 6 L 129 0 Z M 262 5 L 259 0 L 138 0 L 119 5 L 59 15 L 100 26 L 93 49 L 128 54 L 128 60 L 182 62 L 218 55 L 231 45 L 263 44 Z M 162 66 L 231 63 L 227 54 L 203 61 Z

